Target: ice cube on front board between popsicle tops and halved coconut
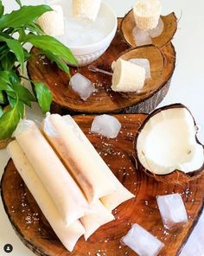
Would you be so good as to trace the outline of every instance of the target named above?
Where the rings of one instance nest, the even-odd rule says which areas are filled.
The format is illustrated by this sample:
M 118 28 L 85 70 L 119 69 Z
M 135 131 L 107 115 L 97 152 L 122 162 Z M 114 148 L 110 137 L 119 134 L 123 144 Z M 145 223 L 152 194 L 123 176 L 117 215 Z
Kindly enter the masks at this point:
M 107 138 L 117 138 L 121 124 L 117 118 L 109 115 L 101 115 L 94 118 L 91 131 Z

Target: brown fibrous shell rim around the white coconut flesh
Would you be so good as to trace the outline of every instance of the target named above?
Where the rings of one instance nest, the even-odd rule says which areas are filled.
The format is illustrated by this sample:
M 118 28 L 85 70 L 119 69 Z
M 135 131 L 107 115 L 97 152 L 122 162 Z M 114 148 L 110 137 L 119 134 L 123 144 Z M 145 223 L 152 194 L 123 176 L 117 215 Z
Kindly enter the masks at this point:
M 167 110 L 170 108 L 186 108 L 188 110 L 188 107 L 183 106 L 180 103 L 176 103 L 176 104 L 169 105 L 169 106 L 163 106 L 161 108 L 156 109 L 154 112 L 151 112 L 149 117 L 144 120 L 143 125 L 140 127 L 140 129 L 137 132 L 137 136 L 134 141 L 134 149 L 136 151 L 138 168 L 140 170 L 143 170 L 148 176 L 153 177 L 158 182 L 173 183 L 175 185 L 179 185 L 179 184 L 183 184 L 186 182 L 194 181 L 195 179 L 201 177 L 204 174 L 204 159 L 203 159 L 203 165 L 201 166 L 201 168 L 199 170 L 192 170 L 192 172 L 188 172 L 188 173 L 184 173 L 181 170 L 175 170 L 172 173 L 169 173 L 167 175 L 156 175 L 156 174 L 150 172 L 150 170 L 147 170 L 146 168 L 144 168 L 143 164 L 140 163 L 139 158 L 137 157 L 137 155 L 138 155 L 137 154 L 137 138 L 138 138 L 139 133 L 143 130 L 144 125 L 146 125 L 147 122 L 150 120 L 150 118 L 152 118 L 154 115 L 156 115 L 156 113 L 162 112 L 163 110 Z M 188 110 L 188 112 L 190 112 L 190 111 Z M 194 118 L 194 116 L 191 112 L 190 112 L 190 114 Z M 194 120 L 194 125 L 196 125 L 195 120 Z M 196 140 L 197 144 L 201 144 L 196 135 L 195 135 L 195 140 Z M 203 145 L 202 145 L 202 147 L 204 148 Z

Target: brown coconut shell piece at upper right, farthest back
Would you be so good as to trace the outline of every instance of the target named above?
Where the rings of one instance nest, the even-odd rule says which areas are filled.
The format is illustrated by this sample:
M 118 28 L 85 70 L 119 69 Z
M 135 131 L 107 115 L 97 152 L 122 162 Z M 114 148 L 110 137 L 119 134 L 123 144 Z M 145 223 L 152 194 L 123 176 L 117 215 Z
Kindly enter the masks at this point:
M 177 30 L 177 18 L 175 13 L 172 12 L 168 16 L 161 16 L 163 21 L 163 33 L 155 38 L 152 38 L 152 44 L 158 48 L 162 48 L 168 42 L 170 42 Z M 124 36 L 125 42 L 131 47 L 137 47 L 132 34 L 132 30 L 136 27 L 136 22 L 133 14 L 133 10 L 130 10 L 123 18 L 120 26 L 120 30 Z

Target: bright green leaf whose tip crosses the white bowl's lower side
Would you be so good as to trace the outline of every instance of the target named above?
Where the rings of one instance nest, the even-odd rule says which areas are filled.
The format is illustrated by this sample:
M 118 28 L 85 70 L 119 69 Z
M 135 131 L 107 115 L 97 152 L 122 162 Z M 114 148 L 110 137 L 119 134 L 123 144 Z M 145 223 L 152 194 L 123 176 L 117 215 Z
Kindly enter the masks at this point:
M 70 64 L 77 65 L 77 61 L 70 49 L 50 35 L 29 34 L 24 38 L 24 42 L 30 42 L 36 48 L 48 51 Z

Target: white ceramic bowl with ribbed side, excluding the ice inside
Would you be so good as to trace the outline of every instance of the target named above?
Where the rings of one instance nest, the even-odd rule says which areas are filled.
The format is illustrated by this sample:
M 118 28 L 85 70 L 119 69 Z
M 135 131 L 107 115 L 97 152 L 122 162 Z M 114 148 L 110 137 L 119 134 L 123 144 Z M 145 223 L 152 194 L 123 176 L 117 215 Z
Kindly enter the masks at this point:
M 52 3 L 63 3 L 66 0 L 55 0 L 51 1 Z M 65 4 L 65 3 L 63 3 Z M 109 34 L 105 36 L 99 42 L 94 42 L 84 46 L 69 46 L 66 42 L 61 41 L 61 37 L 57 36 L 57 39 L 63 42 L 70 50 L 72 51 L 74 57 L 77 59 L 79 66 L 86 66 L 87 64 L 91 63 L 92 61 L 96 61 L 102 54 L 104 54 L 105 50 L 110 46 L 112 39 L 116 34 L 116 30 L 118 27 L 118 20 L 116 13 L 112 8 L 107 4 L 102 2 L 100 6 L 100 11 L 105 13 L 105 16 L 109 17 L 109 22 L 107 24 L 109 29 Z M 111 19 L 110 19 L 111 17 Z

